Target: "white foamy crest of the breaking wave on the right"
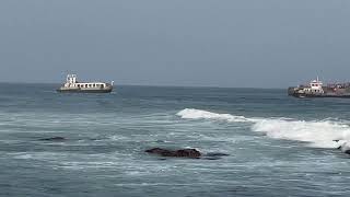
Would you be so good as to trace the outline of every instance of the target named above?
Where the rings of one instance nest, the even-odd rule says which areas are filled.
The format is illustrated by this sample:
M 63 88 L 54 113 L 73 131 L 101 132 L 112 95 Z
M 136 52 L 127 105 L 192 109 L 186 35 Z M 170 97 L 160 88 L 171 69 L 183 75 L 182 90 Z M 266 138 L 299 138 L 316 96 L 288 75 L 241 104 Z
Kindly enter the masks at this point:
M 276 139 L 288 139 L 308 142 L 312 147 L 337 148 L 334 140 L 350 141 L 350 127 L 341 121 L 332 120 L 295 120 L 287 118 L 247 118 L 231 114 L 217 114 L 195 108 L 186 108 L 177 113 L 185 119 L 225 120 L 229 123 L 252 123 L 250 129 L 264 132 Z

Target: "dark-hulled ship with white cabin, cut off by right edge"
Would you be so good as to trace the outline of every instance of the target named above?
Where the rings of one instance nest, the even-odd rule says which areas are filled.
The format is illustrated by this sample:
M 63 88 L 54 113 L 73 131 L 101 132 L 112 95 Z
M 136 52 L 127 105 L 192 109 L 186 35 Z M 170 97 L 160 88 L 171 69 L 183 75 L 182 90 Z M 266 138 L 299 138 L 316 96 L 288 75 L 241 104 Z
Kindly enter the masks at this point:
M 308 85 L 290 86 L 288 94 L 295 97 L 349 97 L 350 83 L 326 84 L 319 81 L 318 77 Z

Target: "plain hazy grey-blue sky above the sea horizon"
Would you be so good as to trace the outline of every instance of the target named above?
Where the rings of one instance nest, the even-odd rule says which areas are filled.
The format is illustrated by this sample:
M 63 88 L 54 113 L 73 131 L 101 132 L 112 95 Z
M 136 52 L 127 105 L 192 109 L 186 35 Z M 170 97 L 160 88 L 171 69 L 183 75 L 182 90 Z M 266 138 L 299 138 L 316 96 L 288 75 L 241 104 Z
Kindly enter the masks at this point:
M 0 81 L 350 81 L 349 0 L 1 0 Z

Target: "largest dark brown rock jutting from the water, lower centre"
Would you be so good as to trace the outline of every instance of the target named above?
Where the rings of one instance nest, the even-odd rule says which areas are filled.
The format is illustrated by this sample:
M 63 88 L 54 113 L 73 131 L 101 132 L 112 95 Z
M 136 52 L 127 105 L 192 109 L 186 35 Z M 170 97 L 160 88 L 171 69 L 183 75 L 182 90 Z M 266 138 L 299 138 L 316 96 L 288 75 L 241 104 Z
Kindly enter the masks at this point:
M 161 148 L 154 148 L 145 150 L 148 153 L 159 154 L 162 157 L 173 157 L 173 158 L 192 158 L 198 159 L 201 157 L 201 153 L 196 149 L 179 149 L 179 150 L 167 150 Z

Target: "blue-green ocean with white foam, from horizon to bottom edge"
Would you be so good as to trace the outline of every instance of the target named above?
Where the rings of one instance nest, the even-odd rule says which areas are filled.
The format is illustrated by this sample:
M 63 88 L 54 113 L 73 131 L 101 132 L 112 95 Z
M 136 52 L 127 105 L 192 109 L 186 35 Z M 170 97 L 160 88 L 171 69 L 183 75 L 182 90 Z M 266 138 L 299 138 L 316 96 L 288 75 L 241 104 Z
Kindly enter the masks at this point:
M 0 196 L 349 196 L 350 100 L 287 90 L 0 84 Z M 62 141 L 40 140 L 62 137 Z M 161 158 L 151 148 L 225 153 Z

